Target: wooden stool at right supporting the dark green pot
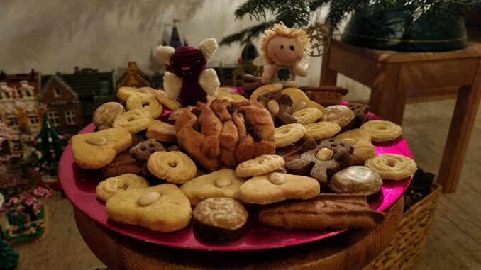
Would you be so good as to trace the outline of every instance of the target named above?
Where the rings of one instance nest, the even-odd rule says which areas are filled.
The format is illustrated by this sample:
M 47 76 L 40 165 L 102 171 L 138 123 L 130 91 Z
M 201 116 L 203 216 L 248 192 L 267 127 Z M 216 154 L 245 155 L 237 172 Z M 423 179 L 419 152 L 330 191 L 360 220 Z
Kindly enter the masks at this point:
M 402 123 L 408 91 L 459 87 L 438 183 L 454 192 L 481 98 L 481 44 L 451 52 L 372 50 L 332 40 L 323 56 L 321 84 L 336 85 L 338 72 L 371 87 L 371 111 Z

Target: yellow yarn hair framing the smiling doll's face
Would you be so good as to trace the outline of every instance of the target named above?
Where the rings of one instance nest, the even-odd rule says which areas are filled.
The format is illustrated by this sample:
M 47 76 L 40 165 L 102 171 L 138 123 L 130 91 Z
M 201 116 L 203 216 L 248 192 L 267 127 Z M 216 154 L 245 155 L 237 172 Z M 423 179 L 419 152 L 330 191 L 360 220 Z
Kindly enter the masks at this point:
M 272 38 L 277 36 L 297 38 L 301 41 L 302 45 L 304 45 L 304 50 L 306 50 L 306 46 L 309 45 L 309 38 L 307 37 L 306 31 L 302 29 L 288 28 L 284 25 L 284 23 L 282 23 L 282 21 L 280 23 L 276 23 L 272 28 L 265 30 L 264 36 L 262 37 L 262 43 L 260 44 L 260 49 L 262 50 L 262 54 L 264 55 L 267 64 L 274 63 L 274 61 L 272 61 L 267 54 L 267 45 L 269 45 L 269 42 L 272 40 Z M 304 52 L 304 58 L 306 57 L 307 53 Z

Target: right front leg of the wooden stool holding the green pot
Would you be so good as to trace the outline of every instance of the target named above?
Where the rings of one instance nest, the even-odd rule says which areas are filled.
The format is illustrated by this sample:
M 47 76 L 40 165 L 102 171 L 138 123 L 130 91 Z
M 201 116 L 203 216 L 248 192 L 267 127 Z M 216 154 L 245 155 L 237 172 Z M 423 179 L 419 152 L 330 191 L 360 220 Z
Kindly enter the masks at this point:
M 477 65 L 474 84 L 461 86 L 444 147 L 443 160 L 438 174 L 438 183 L 443 192 L 456 191 L 463 162 L 468 149 L 472 127 L 481 98 L 481 61 Z

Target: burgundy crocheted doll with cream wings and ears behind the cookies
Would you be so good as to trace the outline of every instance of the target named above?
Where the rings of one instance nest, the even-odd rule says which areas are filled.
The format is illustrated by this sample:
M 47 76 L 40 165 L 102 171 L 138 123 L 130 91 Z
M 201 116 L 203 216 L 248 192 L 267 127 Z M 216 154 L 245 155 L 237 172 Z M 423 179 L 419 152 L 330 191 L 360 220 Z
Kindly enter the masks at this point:
M 208 38 L 194 47 L 157 47 L 157 55 L 167 64 L 164 89 L 171 99 L 179 99 L 183 106 L 195 106 L 197 101 L 207 102 L 207 94 L 217 96 L 219 79 L 206 63 L 217 50 L 217 41 Z

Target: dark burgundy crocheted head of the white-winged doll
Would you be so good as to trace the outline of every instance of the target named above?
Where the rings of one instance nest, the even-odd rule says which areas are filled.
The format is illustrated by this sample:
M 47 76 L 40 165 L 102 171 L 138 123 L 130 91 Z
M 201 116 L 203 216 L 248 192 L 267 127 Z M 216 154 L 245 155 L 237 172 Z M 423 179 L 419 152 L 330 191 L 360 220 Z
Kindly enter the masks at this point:
M 193 47 L 178 47 L 170 58 L 170 69 L 178 77 L 197 77 L 204 70 L 206 59 Z

